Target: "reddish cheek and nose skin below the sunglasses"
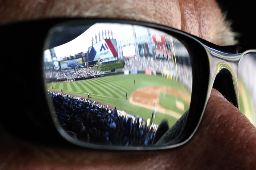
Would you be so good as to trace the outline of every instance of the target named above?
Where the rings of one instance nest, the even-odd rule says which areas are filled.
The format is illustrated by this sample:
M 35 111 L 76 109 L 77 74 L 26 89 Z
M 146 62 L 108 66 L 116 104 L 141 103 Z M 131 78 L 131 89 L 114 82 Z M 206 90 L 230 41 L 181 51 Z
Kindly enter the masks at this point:
M 171 150 L 134 152 L 48 147 L 22 141 L 3 131 L 0 126 L 0 169 L 255 167 L 255 127 L 217 90 L 213 89 L 209 102 L 192 139 L 184 146 Z

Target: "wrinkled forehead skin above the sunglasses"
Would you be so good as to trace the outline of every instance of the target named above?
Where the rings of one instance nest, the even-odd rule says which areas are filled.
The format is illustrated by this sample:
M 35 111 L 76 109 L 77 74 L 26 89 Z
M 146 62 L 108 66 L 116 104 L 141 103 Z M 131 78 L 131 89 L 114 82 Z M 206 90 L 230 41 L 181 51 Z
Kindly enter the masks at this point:
M 216 34 L 224 28 L 221 11 L 214 0 L 7 0 L 0 8 L 1 24 L 75 16 L 158 23 L 217 44 Z

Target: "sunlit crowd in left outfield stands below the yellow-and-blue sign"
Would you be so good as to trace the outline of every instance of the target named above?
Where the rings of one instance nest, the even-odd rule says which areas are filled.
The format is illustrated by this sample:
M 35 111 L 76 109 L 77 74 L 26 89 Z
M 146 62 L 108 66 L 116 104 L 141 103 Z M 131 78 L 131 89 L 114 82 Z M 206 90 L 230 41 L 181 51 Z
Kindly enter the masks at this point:
M 74 78 L 94 76 L 94 75 L 100 75 L 100 74 L 103 74 L 103 72 L 94 70 L 91 67 L 63 69 L 63 70 L 58 70 L 58 71 L 53 71 L 53 70 L 45 71 L 46 79 L 50 79 L 50 78 L 74 79 Z

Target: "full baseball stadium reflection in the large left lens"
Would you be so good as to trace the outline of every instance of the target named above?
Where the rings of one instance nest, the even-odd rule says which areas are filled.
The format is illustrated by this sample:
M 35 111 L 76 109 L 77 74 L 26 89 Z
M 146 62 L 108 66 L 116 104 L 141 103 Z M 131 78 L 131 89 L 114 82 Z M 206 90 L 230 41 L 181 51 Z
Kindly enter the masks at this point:
M 113 23 L 87 25 L 66 41 L 71 28 L 53 29 L 50 44 L 59 44 L 44 52 L 47 92 L 62 128 L 94 144 L 153 146 L 190 106 L 184 45 L 156 29 Z M 56 37 L 60 30 L 65 36 Z

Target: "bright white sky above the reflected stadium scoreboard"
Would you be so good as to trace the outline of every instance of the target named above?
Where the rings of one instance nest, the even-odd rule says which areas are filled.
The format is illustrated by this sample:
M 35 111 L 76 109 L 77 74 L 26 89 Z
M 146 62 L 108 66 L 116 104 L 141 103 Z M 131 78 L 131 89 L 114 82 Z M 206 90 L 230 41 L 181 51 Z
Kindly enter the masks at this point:
M 146 27 L 135 25 L 134 29 L 135 29 L 137 38 L 148 35 Z M 60 61 L 62 60 L 62 58 L 73 56 L 81 52 L 87 52 L 88 48 L 92 46 L 92 38 L 93 38 L 93 44 L 96 43 L 95 34 L 97 36 L 97 42 L 99 42 L 99 33 L 100 33 L 100 40 L 102 40 L 102 30 L 103 30 L 104 39 L 109 39 L 109 36 L 110 38 L 112 38 L 111 36 L 111 30 L 112 30 L 113 39 L 116 39 L 117 42 L 125 41 L 125 40 L 134 40 L 132 26 L 129 24 L 97 23 L 92 25 L 89 29 L 87 29 L 84 33 L 82 33 L 80 36 L 78 36 L 74 40 L 67 42 L 63 45 L 54 47 L 57 60 Z M 106 30 L 106 34 L 105 34 L 105 30 Z M 108 30 L 109 30 L 109 34 L 108 34 Z M 150 29 L 150 32 L 151 34 L 162 33 L 155 29 Z M 44 51 L 44 61 L 45 62 L 51 61 L 50 50 Z

